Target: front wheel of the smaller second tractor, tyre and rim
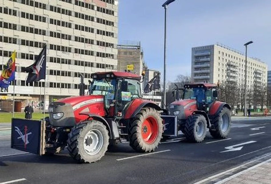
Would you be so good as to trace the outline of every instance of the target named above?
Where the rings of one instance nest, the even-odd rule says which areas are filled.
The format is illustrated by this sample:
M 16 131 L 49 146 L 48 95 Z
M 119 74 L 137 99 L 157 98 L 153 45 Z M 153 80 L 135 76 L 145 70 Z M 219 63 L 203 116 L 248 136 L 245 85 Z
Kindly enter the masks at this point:
M 198 129 L 199 128 L 199 129 Z M 189 116 L 184 125 L 184 135 L 190 142 L 202 142 L 206 136 L 207 121 L 203 115 Z

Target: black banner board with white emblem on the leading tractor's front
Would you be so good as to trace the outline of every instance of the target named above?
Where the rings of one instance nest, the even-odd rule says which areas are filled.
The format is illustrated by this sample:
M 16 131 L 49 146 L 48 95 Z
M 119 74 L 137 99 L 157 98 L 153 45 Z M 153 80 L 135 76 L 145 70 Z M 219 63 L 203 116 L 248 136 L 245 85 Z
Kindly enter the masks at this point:
M 43 147 L 43 121 L 12 118 L 11 148 L 40 154 Z

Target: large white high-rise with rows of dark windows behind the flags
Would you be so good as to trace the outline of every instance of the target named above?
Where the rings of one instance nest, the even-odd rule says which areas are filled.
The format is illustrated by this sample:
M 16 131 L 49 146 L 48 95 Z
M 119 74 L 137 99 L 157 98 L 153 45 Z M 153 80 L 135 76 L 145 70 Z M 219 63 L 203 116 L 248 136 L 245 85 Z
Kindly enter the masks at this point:
M 55 99 L 79 95 L 79 72 L 88 84 L 93 72 L 117 70 L 117 26 L 118 0 L 0 0 L 0 72 L 16 50 L 15 100 L 36 103 L 41 95 L 46 109 Z M 26 86 L 21 71 L 45 44 L 46 84 Z M 1 89 L 0 101 L 12 94 L 13 85 Z

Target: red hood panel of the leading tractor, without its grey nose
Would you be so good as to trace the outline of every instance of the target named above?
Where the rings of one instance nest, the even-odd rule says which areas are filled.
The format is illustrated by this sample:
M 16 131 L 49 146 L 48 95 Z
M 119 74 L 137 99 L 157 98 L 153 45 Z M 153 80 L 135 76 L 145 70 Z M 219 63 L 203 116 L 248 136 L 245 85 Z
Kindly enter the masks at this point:
M 58 102 L 71 104 L 76 123 L 89 117 L 87 115 L 79 115 L 79 113 L 95 114 L 102 117 L 106 115 L 103 95 L 68 97 L 60 99 Z

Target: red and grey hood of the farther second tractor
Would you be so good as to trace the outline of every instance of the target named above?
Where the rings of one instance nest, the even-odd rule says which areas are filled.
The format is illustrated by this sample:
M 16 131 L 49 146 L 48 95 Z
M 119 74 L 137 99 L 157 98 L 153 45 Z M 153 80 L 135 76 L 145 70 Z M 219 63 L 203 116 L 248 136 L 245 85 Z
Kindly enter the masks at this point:
M 194 99 L 178 100 L 169 105 L 168 113 L 171 116 L 178 116 L 179 120 L 186 119 L 197 109 L 197 103 Z

